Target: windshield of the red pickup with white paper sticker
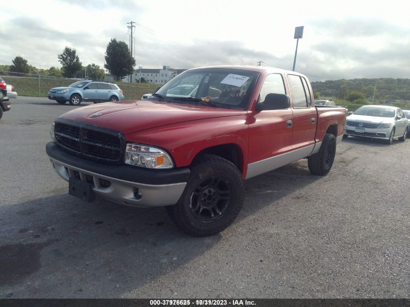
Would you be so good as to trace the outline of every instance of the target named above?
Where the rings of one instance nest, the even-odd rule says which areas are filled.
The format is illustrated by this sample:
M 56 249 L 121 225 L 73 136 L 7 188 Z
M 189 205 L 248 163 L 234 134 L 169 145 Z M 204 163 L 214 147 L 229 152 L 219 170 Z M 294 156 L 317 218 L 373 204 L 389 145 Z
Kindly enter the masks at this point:
M 221 108 L 245 110 L 258 75 L 243 69 L 187 70 L 164 84 L 157 94 L 176 103 L 200 104 L 202 100 Z

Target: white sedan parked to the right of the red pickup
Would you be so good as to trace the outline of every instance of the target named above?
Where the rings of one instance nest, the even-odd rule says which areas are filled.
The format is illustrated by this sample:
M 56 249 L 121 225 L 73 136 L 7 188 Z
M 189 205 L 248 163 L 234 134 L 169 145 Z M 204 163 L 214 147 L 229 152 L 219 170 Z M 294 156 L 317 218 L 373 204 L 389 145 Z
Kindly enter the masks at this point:
M 368 105 L 362 106 L 351 114 L 344 126 L 343 138 L 349 135 L 386 140 L 406 140 L 409 121 L 397 107 Z

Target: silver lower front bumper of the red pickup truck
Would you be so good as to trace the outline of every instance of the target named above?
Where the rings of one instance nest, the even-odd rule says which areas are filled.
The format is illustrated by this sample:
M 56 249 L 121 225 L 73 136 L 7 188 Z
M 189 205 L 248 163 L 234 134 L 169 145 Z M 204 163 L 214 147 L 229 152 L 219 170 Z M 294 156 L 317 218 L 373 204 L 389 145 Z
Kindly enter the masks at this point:
M 77 168 L 66 163 L 50 159 L 56 173 L 68 181 L 70 177 L 80 177 L 82 181 L 91 181 L 93 191 L 101 198 L 112 202 L 128 205 L 133 207 L 162 207 L 174 205 L 180 199 L 180 196 L 185 189 L 186 182 L 151 185 L 125 181 L 121 179 L 111 178 L 104 175 L 89 172 L 87 170 Z M 109 182 L 109 186 L 107 186 Z M 135 192 L 140 191 L 140 195 Z

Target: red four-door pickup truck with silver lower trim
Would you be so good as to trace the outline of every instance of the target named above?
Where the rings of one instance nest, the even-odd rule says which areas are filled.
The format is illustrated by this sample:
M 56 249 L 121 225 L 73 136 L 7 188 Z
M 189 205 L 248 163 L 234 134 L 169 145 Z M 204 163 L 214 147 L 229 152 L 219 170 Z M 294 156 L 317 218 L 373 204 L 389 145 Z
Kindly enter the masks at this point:
M 307 158 L 326 175 L 346 109 L 315 107 L 299 73 L 261 66 L 189 69 L 143 101 L 78 108 L 46 146 L 69 194 L 135 207 L 166 206 L 194 236 L 229 226 L 244 180 Z

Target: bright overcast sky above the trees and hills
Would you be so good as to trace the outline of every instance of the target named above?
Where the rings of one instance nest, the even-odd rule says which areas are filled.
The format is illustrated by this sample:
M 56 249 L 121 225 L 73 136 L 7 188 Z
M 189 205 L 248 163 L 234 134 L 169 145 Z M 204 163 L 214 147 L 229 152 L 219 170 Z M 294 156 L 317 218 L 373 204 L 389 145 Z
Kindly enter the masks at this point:
M 0 64 L 61 67 L 69 46 L 103 67 L 111 38 L 129 43 L 136 67 L 273 65 L 292 69 L 295 27 L 304 26 L 295 70 L 311 81 L 410 78 L 405 0 L 13 0 L 2 2 Z

